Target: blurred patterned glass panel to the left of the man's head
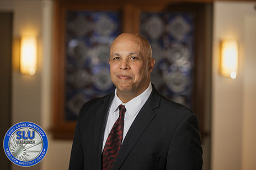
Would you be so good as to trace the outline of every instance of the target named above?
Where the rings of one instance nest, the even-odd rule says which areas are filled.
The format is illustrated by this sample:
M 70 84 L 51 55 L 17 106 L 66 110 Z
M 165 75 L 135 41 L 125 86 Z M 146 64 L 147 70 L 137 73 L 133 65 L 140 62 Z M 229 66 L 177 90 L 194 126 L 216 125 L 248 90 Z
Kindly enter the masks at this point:
M 76 120 L 84 102 L 114 91 L 108 59 L 119 34 L 118 12 L 67 11 L 66 120 Z

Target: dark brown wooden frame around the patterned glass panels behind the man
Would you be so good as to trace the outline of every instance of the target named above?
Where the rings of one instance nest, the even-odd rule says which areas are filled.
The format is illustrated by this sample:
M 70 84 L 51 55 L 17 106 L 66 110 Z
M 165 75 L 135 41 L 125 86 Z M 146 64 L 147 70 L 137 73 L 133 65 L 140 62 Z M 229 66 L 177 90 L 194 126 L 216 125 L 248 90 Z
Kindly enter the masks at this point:
M 204 129 L 204 111 L 205 111 L 205 91 L 206 88 L 206 60 L 205 60 L 205 20 L 206 10 L 202 3 L 196 4 L 170 4 L 168 2 L 158 4 L 137 4 L 135 2 L 123 4 L 116 2 L 114 4 L 93 4 L 79 2 L 70 4 L 65 1 L 56 1 L 55 4 L 55 50 L 54 50 L 54 114 L 52 122 L 52 132 L 54 139 L 73 139 L 76 120 L 65 119 L 65 81 L 66 81 L 66 33 L 65 16 L 68 10 L 98 10 L 98 11 L 119 11 L 121 12 L 121 32 L 139 33 L 140 13 L 142 11 L 174 11 L 191 12 L 196 15 L 195 32 L 195 69 L 193 72 L 194 85 L 193 111 L 198 115 L 200 122 L 201 138 L 209 135 Z

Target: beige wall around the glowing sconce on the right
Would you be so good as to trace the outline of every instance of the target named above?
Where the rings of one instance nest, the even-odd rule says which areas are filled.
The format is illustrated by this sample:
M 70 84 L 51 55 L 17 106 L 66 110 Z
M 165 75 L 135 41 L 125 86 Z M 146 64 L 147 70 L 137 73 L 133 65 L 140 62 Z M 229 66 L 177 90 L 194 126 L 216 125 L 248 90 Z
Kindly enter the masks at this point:
M 251 138 L 255 140 L 255 135 L 249 136 L 246 133 L 247 129 L 256 128 L 255 124 L 247 124 L 248 120 L 255 120 L 255 116 L 250 113 L 253 105 L 247 102 L 248 100 L 256 101 L 255 95 L 251 94 L 253 87 L 247 88 L 252 84 L 255 85 L 255 75 L 252 73 L 256 73 L 256 68 L 248 67 L 248 62 L 255 61 L 255 52 L 250 50 L 249 46 L 250 44 L 255 46 L 256 43 L 256 39 L 252 39 L 256 35 L 255 26 L 250 30 L 250 39 L 246 36 L 248 35 L 246 29 L 253 26 L 246 25 L 248 24 L 247 16 L 256 16 L 254 5 L 252 2 L 218 1 L 214 3 L 211 142 L 211 169 L 213 170 L 247 169 L 244 163 L 248 166 L 250 164 L 250 167 L 254 164 L 255 168 L 255 161 L 244 159 L 250 151 L 243 147 L 244 144 L 250 144 L 250 149 L 255 151 L 255 146 L 250 142 Z M 238 40 L 239 73 L 237 79 L 223 78 L 218 74 L 219 47 L 223 39 Z M 249 78 L 248 73 L 250 73 Z M 255 156 L 255 153 L 253 154 Z

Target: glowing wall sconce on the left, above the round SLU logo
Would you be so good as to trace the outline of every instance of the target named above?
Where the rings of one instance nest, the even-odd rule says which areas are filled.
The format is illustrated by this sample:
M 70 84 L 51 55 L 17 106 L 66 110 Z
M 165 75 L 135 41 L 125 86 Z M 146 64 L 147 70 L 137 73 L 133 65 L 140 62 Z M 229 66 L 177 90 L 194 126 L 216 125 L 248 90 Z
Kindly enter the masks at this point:
M 38 41 L 36 37 L 22 37 L 20 41 L 20 73 L 34 75 L 37 69 Z

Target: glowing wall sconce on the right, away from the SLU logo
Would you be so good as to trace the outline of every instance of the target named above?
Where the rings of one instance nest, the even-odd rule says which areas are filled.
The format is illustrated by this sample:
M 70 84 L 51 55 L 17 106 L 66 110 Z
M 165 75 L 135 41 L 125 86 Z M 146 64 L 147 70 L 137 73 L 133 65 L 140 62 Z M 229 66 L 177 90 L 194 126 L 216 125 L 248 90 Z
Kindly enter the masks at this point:
M 238 42 L 221 41 L 220 73 L 222 76 L 236 79 L 238 73 Z

